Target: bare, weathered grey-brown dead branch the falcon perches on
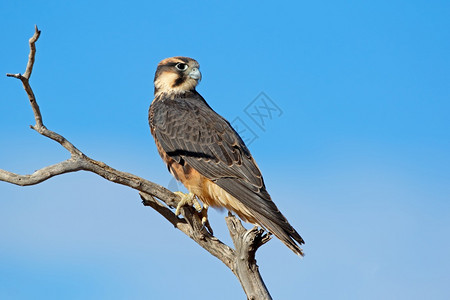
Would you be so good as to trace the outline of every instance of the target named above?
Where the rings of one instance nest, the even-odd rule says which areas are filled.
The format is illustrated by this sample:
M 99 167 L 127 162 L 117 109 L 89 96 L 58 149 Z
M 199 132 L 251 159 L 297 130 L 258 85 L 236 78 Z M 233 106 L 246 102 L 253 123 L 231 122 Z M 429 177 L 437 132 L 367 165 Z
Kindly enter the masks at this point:
M 0 181 L 19 186 L 36 185 L 53 176 L 70 172 L 88 171 L 114 183 L 131 187 L 139 191 L 145 206 L 152 207 L 175 228 L 220 259 L 239 279 L 248 299 L 271 299 L 255 260 L 257 249 L 269 241 L 269 235 L 264 234 L 262 230 L 257 228 L 246 230 L 235 216 L 229 215 L 226 218 L 226 222 L 235 246 L 235 249 L 233 249 L 205 229 L 201 222 L 201 216 L 192 207 L 182 208 L 183 218 L 177 217 L 171 208 L 175 207 L 180 201 L 178 195 L 156 183 L 113 169 L 101 161 L 86 156 L 65 137 L 45 127 L 39 105 L 29 82 L 36 56 L 35 43 L 39 39 L 40 34 L 41 31 L 36 26 L 34 35 L 29 40 L 30 54 L 24 74 L 6 75 L 17 78 L 22 82 L 36 121 L 36 124 L 30 127 L 39 134 L 59 143 L 70 153 L 71 157 L 65 161 L 37 170 L 30 175 L 15 174 L 0 169 Z

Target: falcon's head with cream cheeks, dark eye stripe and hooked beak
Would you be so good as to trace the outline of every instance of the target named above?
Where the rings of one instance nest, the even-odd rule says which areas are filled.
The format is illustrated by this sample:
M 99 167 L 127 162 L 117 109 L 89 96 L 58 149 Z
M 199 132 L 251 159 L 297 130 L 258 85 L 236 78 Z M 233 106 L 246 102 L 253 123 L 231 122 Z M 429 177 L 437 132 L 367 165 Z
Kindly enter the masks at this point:
M 199 68 L 198 62 L 189 57 L 176 56 L 162 60 L 155 72 L 155 95 L 195 90 L 202 79 Z

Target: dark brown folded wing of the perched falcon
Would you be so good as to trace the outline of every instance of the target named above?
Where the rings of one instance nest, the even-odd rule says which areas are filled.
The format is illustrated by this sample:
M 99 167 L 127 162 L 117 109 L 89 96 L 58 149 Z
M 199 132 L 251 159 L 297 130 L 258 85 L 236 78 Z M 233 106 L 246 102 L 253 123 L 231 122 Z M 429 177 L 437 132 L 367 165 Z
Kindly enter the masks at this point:
M 154 101 L 149 119 L 155 139 L 169 157 L 231 194 L 252 212 L 260 226 L 302 254 L 295 241 L 303 244 L 303 239 L 271 200 L 248 148 L 198 93 Z

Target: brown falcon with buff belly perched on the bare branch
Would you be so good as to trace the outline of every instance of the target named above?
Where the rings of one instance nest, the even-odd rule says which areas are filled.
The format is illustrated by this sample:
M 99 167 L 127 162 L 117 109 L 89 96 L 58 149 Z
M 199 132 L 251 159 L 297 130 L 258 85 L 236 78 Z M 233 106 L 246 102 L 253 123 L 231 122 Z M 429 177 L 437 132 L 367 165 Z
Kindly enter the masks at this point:
M 230 123 L 196 91 L 202 75 L 196 60 L 171 57 L 155 73 L 155 98 L 149 108 L 156 147 L 173 176 L 189 190 L 177 192 L 207 222 L 209 206 L 235 212 L 242 220 L 274 234 L 298 255 L 304 244 L 270 198 L 250 151 Z M 200 206 L 198 198 L 203 203 Z

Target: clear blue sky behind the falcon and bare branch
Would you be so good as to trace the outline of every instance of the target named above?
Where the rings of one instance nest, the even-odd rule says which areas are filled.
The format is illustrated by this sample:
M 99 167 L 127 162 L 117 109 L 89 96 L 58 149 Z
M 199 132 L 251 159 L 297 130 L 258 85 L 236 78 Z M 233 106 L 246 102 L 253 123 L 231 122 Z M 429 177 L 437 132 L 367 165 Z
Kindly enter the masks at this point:
M 306 240 L 258 251 L 275 299 L 450 298 L 448 1 L 2 1 L 0 168 L 68 157 L 28 128 L 32 76 L 45 124 L 94 159 L 172 185 L 147 124 L 153 74 L 196 58 L 198 90 L 239 117 L 278 204 Z M 245 108 L 280 108 L 263 128 Z M 211 212 L 229 242 L 224 212 Z M 244 299 L 218 260 L 137 192 L 88 173 L 0 183 L 0 299 Z

